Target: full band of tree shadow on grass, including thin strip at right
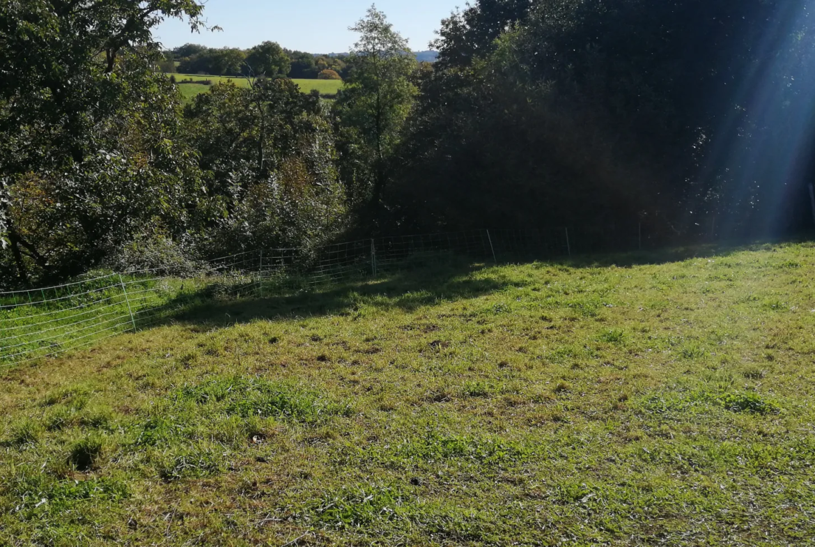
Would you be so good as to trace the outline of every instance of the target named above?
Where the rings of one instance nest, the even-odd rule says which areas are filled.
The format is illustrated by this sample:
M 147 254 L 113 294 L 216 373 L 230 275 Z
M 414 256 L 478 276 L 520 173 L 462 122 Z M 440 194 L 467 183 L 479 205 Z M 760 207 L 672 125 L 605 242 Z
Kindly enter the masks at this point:
M 692 245 L 655 251 L 618 254 L 576 255 L 572 258 L 536 259 L 535 254 L 519 257 L 513 263 L 540 260 L 553 266 L 572 268 L 636 267 L 646 264 L 681 262 L 691 258 L 724 258 L 745 250 L 772 249 L 776 243 L 751 245 Z M 382 310 L 413 311 L 435 302 L 452 302 L 478 298 L 509 285 L 522 285 L 522 280 L 504 276 L 472 276 L 494 264 L 474 262 L 467 258 L 447 256 L 443 263 L 414 267 L 390 276 L 347 280 L 333 285 L 317 285 L 309 289 L 286 289 L 266 284 L 264 297 L 257 286 L 233 286 L 237 293 L 253 293 L 245 298 L 218 298 L 212 287 L 195 293 L 179 295 L 170 303 L 165 318 L 157 324 L 181 323 L 205 326 L 207 329 L 244 324 L 254 320 L 291 319 L 323 315 L 351 315 L 361 307 Z M 139 325 L 140 326 L 140 325 Z M 145 325 L 147 326 L 147 325 Z

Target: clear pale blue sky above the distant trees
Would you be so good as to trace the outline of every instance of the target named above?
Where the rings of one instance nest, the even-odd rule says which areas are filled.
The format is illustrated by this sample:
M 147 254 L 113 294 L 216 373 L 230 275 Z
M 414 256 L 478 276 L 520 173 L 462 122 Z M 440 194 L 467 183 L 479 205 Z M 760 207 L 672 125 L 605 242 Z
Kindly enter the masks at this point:
M 441 20 L 465 0 L 379 0 L 394 29 L 414 51 L 428 49 Z M 365 15 L 372 0 L 208 0 L 207 23 L 223 32 L 191 34 L 188 25 L 167 20 L 153 36 L 166 48 L 187 42 L 243 49 L 270 40 L 290 50 L 310 53 L 348 51 L 355 34 L 348 27 Z

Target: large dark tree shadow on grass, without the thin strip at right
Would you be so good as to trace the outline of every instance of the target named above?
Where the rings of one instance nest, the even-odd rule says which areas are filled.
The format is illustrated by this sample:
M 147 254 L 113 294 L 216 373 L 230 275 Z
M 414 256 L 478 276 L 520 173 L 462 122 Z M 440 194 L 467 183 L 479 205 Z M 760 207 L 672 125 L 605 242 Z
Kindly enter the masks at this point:
M 289 289 L 275 294 L 273 287 L 264 287 L 264 298 L 214 298 L 210 289 L 203 289 L 178 297 L 170 308 L 179 311 L 163 322 L 205 325 L 211 329 L 254 320 L 352 315 L 361 307 L 413 311 L 434 302 L 478 298 L 519 284 L 518 280 L 510 283 L 500 276 L 471 276 L 489 266 L 491 264 L 454 259 L 444 265 L 399 271 L 377 279 L 360 278 L 307 291 Z

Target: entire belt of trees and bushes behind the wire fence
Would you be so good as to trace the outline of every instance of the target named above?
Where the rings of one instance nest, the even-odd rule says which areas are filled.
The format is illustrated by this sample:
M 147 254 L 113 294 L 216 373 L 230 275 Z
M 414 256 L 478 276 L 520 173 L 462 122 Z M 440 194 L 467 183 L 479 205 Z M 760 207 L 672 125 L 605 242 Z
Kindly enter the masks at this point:
M 183 106 L 150 30 L 203 29 L 202 9 L 0 7 L 0 283 L 377 232 L 639 223 L 672 244 L 812 226 L 803 0 L 478 0 L 441 22 L 435 64 L 372 8 L 335 101 L 258 77 Z M 321 68 L 272 42 L 214 52 L 170 60 Z

